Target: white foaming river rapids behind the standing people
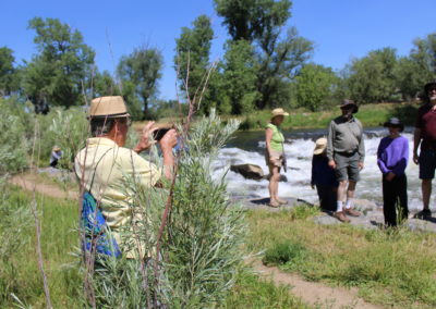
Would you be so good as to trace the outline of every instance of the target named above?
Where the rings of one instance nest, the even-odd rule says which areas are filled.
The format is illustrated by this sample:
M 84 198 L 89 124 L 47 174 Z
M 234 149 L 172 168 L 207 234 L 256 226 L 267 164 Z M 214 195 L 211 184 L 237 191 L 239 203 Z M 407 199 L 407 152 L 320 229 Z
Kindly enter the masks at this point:
M 315 140 L 326 135 L 326 129 L 300 129 L 283 132 L 286 137 L 284 152 L 288 160 L 287 183 L 280 183 L 279 195 L 281 197 L 302 198 L 310 202 L 317 202 L 316 191 L 311 188 L 312 154 Z M 409 209 L 421 210 L 421 181 L 419 168 L 412 162 L 413 127 L 407 127 L 403 136 L 409 139 L 409 164 L 405 170 L 409 186 Z M 382 202 L 382 174 L 377 166 L 377 147 L 382 137 L 387 135 L 386 128 L 374 127 L 364 129 L 365 140 L 365 168 L 361 172 L 361 181 L 358 183 L 355 198 L 368 199 L 377 203 Z M 267 197 L 268 182 L 245 180 L 242 175 L 229 171 L 230 164 L 252 163 L 262 166 L 267 174 L 264 159 L 265 133 L 264 132 L 238 132 L 227 146 L 220 150 L 218 160 L 214 164 L 214 176 L 226 177 L 228 190 L 231 195 L 246 196 L 251 198 Z M 227 172 L 227 173 L 226 173 Z M 283 172 L 282 172 L 283 174 Z M 433 196 L 432 196 L 433 200 Z M 431 201 L 432 205 L 432 201 Z

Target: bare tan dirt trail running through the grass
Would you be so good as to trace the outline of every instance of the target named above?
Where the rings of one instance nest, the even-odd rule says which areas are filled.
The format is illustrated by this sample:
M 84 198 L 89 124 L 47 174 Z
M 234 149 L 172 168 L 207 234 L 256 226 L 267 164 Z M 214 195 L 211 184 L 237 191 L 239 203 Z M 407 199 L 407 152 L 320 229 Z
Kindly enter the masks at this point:
M 36 182 L 35 174 L 21 174 L 12 177 L 10 182 L 19 185 L 26 190 L 35 190 L 55 198 L 76 199 L 77 191 L 63 190 L 55 184 L 44 184 Z M 320 308 L 355 308 L 355 309 L 380 309 L 383 307 L 365 302 L 358 297 L 356 289 L 342 287 L 330 287 L 322 283 L 308 282 L 299 275 L 280 271 L 275 267 L 265 267 L 261 261 L 250 261 L 250 264 L 259 273 L 261 276 L 271 279 L 276 285 L 290 285 L 290 293 L 300 297 L 308 305 Z

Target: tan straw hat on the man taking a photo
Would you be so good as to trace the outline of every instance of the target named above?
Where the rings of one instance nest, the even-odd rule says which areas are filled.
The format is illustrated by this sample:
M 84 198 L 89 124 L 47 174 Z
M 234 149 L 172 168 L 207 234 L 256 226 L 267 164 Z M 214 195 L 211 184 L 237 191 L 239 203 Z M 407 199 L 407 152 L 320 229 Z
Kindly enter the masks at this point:
M 124 100 L 120 96 L 100 97 L 90 101 L 89 116 L 93 118 L 120 118 L 129 116 Z

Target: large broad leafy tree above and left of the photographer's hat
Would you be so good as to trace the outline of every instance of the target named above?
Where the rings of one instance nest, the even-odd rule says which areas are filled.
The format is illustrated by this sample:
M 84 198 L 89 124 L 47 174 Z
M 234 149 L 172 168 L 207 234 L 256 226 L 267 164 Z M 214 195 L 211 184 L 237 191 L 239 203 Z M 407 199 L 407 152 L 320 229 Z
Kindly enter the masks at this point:
M 38 53 L 24 70 L 23 88 L 36 112 L 48 106 L 80 104 L 81 92 L 92 75 L 94 51 L 84 44 L 78 30 L 57 18 L 35 17 L 28 28 L 36 32 Z

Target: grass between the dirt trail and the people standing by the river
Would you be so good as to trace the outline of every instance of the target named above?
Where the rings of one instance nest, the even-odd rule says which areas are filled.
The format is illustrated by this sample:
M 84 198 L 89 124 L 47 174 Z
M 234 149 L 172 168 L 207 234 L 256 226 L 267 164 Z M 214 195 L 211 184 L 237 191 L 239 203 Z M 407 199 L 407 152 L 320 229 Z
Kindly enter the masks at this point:
M 252 211 L 249 250 L 310 281 L 354 286 L 365 300 L 402 308 L 436 307 L 436 235 L 325 226 L 314 211 Z M 305 219 L 307 218 L 307 219 Z

